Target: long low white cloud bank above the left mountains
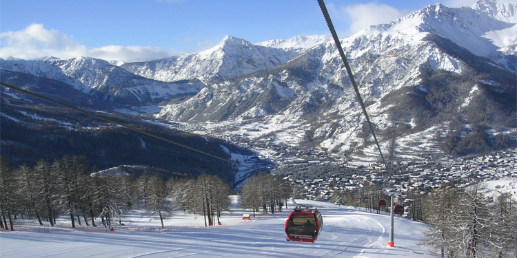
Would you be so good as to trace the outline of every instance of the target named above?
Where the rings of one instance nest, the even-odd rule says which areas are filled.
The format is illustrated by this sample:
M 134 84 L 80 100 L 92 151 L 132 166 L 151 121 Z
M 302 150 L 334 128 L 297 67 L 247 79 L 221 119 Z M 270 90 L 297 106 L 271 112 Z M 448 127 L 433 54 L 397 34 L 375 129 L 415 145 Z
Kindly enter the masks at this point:
M 47 30 L 42 24 L 33 23 L 17 32 L 0 33 L 0 58 L 31 59 L 43 56 L 72 58 L 88 56 L 106 61 L 150 61 L 180 54 L 174 50 L 162 50 L 159 47 L 139 47 L 109 45 L 91 48 L 81 45 L 72 36 L 57 30 Z

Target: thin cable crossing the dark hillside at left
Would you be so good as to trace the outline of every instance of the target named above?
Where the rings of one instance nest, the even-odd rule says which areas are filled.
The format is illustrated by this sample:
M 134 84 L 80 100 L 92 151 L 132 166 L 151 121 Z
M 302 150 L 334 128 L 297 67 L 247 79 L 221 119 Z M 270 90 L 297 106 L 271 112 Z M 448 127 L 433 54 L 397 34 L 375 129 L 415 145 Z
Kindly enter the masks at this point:
M 146 136 L 151 136 L 151 137 L 153 137 L 153 138 L 156 138 L 156 139 L 159 139 L 159 140 L 164 140 L 165 142 L 170 142 L 170 143 L 172 143 L 172 144 L 178 145 L 178 146 L 183 147 L 183 148 L 185 148 L 185 149 L 190 149 L 191 151 L 196 151 L 196 152 L 198 152 L 198 153 L 202 153 L 202 154 L 208 155 L 208 156 L 210 156 L 210 157 L 212 157 L 212 158 L 216 158 L 216 159 L 218 159 L 218 160 L 223 160 L 223 161 L 225 161 L 225 162 L 230 162 L 230 163 L 232 163 L 232 164 L 236 164 L 236 165 L 238 165 L 238 166 L 243 166 L 243 167 L 245 167 L 246 169 L 251 169 L 252 171 L 255 171 L 255 172 L 265 173 L 264 171 L 260 171 L 260 170 L 258 170 L 258 169 L 254 169 L 254 168 L 252 168 L 252 167 L 250 167 L 250 166 L 246 166 L 246 165 L 240 164 L 240 163 L 238 163 L 238 162 L 234 162 L 234 161 L 232 161 L 232 160 L 227 160 L 227 159 L 225 159 L 225 158 L 221 158 L 221 157 L 219 157 L 219 156 L 217 156 L 217 155 L 207 153 L 206 151 L 201 151 L 201 150 L 199 150 L 199 149 L 195 149 L 195 148 L 192 148 L 192 147 L 188 147 L 188 146 L 187 146 L 187 145 L 185 145 L 185 144 L 181 144 L 181 143 L 179 143 L 179 142 L 174 142 L 173 140 L 169 140 L 169 139 L 167 139 L 167 138 L 163 138 L 163 137 L 161 137 L 161 136 L 156 136 L 156 134 L 148 133 L 148 132 L 143 131 L 143 130 L 141 130 L 141 129 L 136 129 L 136 128 L 134 128 L 134 127 L 130 127 L 129 125 L 124 125 L 124 124 L 122 124 L 121 122 L 116 122 L 115 120 L 112 120 L 112 119 L 110 119 L 110 118 L 105 118 L 105 117 L 103 117 L 103 116 L 99 116 L 99 115 L 97 115 L 97 114 L 93 114 L 92 112 L 85 111 L 85 110 L 83 110 L 83 109 L 78 109 L 77 107 L 72 107 L 72 106 L 70 106 L 70 105 L 66 105 L 65 103 L 61 103 L 61 102 L 59 102 L 59 101 L 57 101 L 57 100 L 52 100 L 52 99 L 50 99 L 50 98 L 46 98 L 46 97 L 41 96 L 41 95 L 39 95 L 39 94 L 35 94 L 35 93 L 33 93 L 33 92 L 28 92 L 28 91 L 27 91 L 27 90 L 25 90 L 25 89 L 21 89 L 21 88 L 19 88 L 19 87 L 14 87 L 14 86 L 9 85 L 9 84 L 7 84 L 7 83 L 1 83 L 1 82 L 0 82 L 0 85 L 3 85 L 3 86 L 8 87 L 8 88 L 10 88 L 10 89 L 17 90 L 17 91 L 19 91 L 19 92 L 23 92 L 23 93 L 25 93 L 25 94 L 28 94 L 28 95 L 30 95 L 30 96 L 34 96 L 34 97 L 36 97 L 36 98 L 41 98 L 42 100 L 47 100 L 47 101 L 48 101 L 48 102 L 50 102 L 50 103 L 54 103 L 54 104 L 57 104 L 57 105 L 61 105 L 61 106 L 63 106 L 63 107 L 68 107 L 69 109 L 73 109 L 73 110 L 78 111 L 78 112 L 81 112 L 81 113 L 83 113 L 83 114 L 87 114 L 88 116 L 93 116 L 94 118 L 99 118 L 99 119 L 101 119 L 101 120 L 105 120 L 105 121 L 107 121 L 107 122 L 111 122 L 111 123 L 113 123 L 113 124 L 115 124 L 115 125 L 119 125 L 119 126 L 121 126 L 121 127 L 125 127 L 125 128 L 127 128 L 127 129 L 132 130 L 132 131 L 136 131 L 136 132 L 139 132 L 139 133 L 143 133 L 143 134 L 145 134 Z

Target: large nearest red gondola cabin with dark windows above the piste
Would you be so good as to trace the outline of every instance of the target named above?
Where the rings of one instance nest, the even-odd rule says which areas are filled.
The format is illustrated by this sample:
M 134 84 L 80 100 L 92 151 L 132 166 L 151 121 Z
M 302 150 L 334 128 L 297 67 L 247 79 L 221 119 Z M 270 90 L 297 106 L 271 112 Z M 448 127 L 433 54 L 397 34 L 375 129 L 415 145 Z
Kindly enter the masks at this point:
M 323 218 L 317 209 L 294 209 L 285 221 L 287 241 L 314 243 L 323 228 Z

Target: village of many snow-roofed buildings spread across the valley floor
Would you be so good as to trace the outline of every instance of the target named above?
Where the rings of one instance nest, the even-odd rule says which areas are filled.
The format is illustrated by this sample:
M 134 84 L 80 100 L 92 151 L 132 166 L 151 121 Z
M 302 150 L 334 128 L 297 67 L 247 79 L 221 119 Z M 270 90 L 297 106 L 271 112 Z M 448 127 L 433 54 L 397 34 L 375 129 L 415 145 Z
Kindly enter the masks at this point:
M 304 164 L 321 166 L 324 162 L 309 161 L 297 166 L 302 168 Z M 350 162 L 342 165 L 352 174 L 334 173 L 314 179 L 297 179 L 293 175 L 287 175 L 285 178 L 303 189 L 302 196 L 319 201 L 330 201 L 335 191 L 354 190 L 368 184 L 380 185 L 386 195 L 405 198 L 414 191 L 420 194 L 432 192 L 443 184 L 454 184 L 463 188 L 489 180 L 513 178 L 517 181 L 517 149 L 456 159 L 394 162 L 391 173 L 388 173 L 383 164 L 378 163 L 358 165 Z

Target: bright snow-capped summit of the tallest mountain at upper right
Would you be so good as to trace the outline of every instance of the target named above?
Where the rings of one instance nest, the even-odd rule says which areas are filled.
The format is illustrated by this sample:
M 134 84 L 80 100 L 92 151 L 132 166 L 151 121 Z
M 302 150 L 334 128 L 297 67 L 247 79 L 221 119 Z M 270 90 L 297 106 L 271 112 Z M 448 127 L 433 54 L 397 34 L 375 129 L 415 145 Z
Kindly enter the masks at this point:
M 463 8 L 448 8 L 440 3 L 426 6 L 390 23 L 372 25 L 345 41 L 372 41 L 382 35 L 376 41 L 398 39 L 418 45 L 428 34 L 449 39 L 477 56 L 491 58 L 500 67 L 514 69 L 505 55 L 516 53 L 516 6 L 497 1 L 482 0 Z

